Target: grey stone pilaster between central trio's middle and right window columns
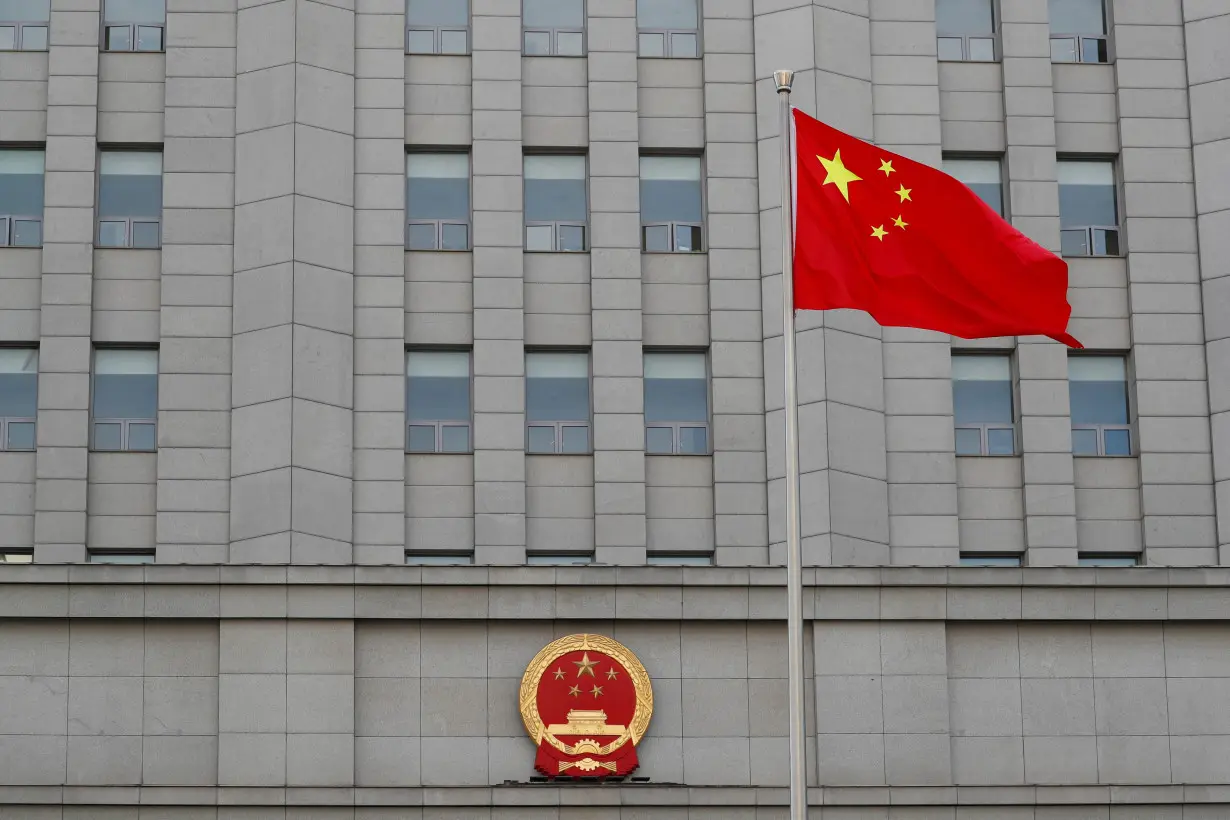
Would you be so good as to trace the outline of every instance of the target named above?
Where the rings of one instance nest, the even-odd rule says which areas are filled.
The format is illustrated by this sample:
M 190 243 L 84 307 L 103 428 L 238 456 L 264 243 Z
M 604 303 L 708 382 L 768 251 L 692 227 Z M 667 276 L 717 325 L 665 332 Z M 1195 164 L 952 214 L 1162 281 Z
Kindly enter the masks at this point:
M 594 547 L 608 564 L 646 553 L 645 393 L 636 7 L 589 4 Z

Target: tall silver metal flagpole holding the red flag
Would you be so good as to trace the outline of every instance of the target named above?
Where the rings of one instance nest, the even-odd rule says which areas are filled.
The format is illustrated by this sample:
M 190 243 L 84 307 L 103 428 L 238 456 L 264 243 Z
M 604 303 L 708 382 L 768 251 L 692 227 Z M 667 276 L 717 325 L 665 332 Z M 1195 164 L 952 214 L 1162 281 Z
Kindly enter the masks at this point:
M 781 320 L 786 391 L 786 641 L 790 668 L 790 820 L 807 820 L 803 693 L 803 545 L 798 520 L 798 386 L 795 371 L 795 218 L 790 90 L 793 71 L 774 71 L 781 133 Z

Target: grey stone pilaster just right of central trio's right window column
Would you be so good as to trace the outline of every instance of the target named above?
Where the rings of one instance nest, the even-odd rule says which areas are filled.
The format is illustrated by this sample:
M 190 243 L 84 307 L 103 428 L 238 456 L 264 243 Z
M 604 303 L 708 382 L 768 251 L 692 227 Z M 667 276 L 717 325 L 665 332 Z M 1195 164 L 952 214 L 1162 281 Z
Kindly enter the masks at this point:
M 769 561 L 753 14 L 705 7 L 715 563 Z M 721 438 L 718 438 L 721 436 Z

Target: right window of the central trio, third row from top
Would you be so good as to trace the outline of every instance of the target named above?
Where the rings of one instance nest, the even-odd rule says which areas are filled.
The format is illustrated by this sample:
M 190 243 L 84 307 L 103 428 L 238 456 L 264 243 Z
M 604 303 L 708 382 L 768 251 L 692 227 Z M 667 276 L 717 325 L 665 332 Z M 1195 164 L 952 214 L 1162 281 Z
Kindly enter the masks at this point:
M 708 452 L 708 377 L 704 353 L 645 354 L 645 451 Z

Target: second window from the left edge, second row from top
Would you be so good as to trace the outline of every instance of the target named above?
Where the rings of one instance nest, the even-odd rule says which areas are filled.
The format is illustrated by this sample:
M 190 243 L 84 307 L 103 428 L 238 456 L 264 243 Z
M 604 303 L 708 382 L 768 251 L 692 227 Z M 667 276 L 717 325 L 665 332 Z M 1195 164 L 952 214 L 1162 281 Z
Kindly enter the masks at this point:
M 162 245 L 162 152 L 98 155 L 98 247 Z

